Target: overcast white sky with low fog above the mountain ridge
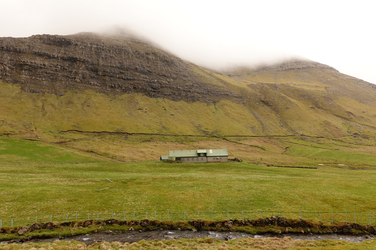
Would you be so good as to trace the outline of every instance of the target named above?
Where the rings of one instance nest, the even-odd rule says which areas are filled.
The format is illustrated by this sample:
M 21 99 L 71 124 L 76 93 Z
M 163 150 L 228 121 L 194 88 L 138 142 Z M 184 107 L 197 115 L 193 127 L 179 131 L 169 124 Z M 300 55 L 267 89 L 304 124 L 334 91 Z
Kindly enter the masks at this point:
M 0 37 L 125 26 L 221 68 L 305 57 L 376 84 L 375 1 L 0 0 Z

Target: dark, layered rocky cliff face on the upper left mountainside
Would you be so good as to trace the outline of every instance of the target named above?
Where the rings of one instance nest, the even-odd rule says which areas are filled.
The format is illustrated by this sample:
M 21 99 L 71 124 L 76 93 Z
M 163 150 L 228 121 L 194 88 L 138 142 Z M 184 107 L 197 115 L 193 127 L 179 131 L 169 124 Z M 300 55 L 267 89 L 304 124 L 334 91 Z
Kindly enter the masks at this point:
M 28 92 L 64 95 L 67 90 L 94 89 L 188 102 L 241 99 L 221 84 L 203 79 L 196 68 L 127 35 L 0 38 L 0 79 L 21 84 Z

